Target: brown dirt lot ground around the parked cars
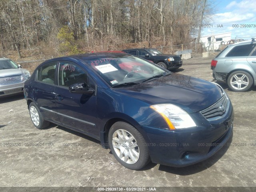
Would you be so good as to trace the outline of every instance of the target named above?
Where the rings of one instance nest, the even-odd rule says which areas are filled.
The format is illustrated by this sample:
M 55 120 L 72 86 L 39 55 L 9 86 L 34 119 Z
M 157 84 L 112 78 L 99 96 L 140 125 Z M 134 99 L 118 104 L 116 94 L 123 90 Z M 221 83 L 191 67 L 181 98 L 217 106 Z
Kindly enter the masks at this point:
M 184 60 L 176 72 L 211 80 L 210 61 L 200 57 Z M 45 130 L 36 129 L 22 95 L 1 98 L 0 186 L 256 187 L 256 88 L 238 93 L 225 84 L 221 86 L 235 112 L 228 144 L 192 166 L 173 168 L 150 163 L 140 171 L 121 166 L 110 150 L 88 136 L 54 124 Z M 84 146 L 65 146 L 67 143 Z

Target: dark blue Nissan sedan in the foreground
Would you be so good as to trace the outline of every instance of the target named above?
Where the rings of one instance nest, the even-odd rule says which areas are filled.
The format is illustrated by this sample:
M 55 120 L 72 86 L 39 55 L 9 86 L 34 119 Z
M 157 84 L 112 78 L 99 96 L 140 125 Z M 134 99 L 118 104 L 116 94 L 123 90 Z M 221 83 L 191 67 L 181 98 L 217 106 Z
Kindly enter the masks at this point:
M 150 160 L 195 164 L 232 135 L 232 104 L 218 84 L 124 52 L 43 62 L 24 83 L 24 95 L 36 128 L 53 122 L 96 138 L 133 170 Z

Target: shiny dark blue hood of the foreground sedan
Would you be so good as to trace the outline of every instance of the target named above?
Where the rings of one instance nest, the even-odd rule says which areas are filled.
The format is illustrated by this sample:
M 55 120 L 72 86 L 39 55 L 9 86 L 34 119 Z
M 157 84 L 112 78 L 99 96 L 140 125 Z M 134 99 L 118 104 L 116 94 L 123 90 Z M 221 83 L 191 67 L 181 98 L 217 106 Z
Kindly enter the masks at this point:
M 115 90 L 149 104 L 175 104 L 190 113 L 208 108 L 223 96 L 222 89 L 212 82 L 174 73 L 150 82 Z

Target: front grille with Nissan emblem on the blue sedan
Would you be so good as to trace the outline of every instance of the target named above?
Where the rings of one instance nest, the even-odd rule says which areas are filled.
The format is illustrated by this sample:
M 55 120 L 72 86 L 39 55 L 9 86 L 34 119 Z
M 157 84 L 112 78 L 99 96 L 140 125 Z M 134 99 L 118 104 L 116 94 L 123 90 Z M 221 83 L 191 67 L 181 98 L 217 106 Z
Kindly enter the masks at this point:
M 225 114 L 228 106 L 230 104 L 230 100 L 226 94 L 218 100 L 215 104 L 208 107 L 207 109 L 201 111 L 200 113 L 208 120 L 217 120 Z

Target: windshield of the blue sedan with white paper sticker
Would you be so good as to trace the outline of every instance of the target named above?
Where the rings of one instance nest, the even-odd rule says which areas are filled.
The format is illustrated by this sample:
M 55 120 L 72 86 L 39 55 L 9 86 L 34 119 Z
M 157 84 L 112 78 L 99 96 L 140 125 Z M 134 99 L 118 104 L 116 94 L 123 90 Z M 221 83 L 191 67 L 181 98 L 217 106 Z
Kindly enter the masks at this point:
M 96 58 L 89 64 L 112 87 L 133 86 L 171 74 L 133 55 Z

